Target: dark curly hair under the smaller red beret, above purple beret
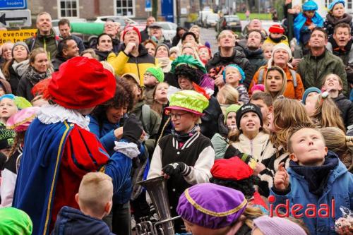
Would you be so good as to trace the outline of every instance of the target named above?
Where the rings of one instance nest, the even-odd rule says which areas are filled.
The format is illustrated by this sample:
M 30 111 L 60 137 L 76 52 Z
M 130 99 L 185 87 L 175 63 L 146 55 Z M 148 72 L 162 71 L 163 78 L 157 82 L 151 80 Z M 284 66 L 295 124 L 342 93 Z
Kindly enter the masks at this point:
M 215 183 L 220 186 L 225 186 L 228 188 L 233 188 L 235 190 L 241 191 L 244 193 L 245 198 L 253 197 L 253 193 L 255 193 L 255 188 L 253 188 L 254 183 L 256 183 L 256 177 L 250 176 L 248 179 L 242 179 L 240 181 L 232 181 L 232 180 L 224 180 L 224 179 L 210 179 L 211 183 Z

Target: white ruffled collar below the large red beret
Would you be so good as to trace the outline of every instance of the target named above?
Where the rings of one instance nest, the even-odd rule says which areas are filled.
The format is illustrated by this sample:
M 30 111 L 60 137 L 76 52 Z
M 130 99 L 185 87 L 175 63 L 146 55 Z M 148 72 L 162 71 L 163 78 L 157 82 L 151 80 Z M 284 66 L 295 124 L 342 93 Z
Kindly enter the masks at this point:
M 59 104 L 45 104 L 40 107 L 38 119 L 44 124 L 68 121 L 90 131 L 88 127 L 90 118 L 88 116 L 83 116 L 75 109 L 66 109 Z

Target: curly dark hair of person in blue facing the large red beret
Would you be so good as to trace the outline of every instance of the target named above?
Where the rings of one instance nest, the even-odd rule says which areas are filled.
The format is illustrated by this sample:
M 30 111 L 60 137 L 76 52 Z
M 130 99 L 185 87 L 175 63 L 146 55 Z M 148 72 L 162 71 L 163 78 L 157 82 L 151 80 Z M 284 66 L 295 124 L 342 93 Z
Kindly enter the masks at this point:
M 92 112 L 92 116 L 94 116 L 100 128 L 103 126 L 104 119 L 107 119 L 107 109 L 110 107 L 114 107 L 119 109 L 121 107 L 127 107 L 127 112 L 129 112 L 133 108 L 133 90 L 131 89 L 131 85 L 126 82 L 124 79 L 116 80 L 116 90 L 115 95 L 112 99 L 107 102 L 98 105 Z

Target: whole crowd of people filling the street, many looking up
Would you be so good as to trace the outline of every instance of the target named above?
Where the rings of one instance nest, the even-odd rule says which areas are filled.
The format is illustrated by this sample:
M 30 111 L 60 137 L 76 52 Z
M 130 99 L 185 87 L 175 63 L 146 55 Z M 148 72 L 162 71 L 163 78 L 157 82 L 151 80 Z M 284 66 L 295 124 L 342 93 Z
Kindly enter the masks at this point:
M 179 234 L 353 234 L 352 16 L 317 9 L 215 53 L 196 25 L 107 20 L 86 48 L 38 14 L 0 49 L 0 234 L 132 234 L 159 176 Z

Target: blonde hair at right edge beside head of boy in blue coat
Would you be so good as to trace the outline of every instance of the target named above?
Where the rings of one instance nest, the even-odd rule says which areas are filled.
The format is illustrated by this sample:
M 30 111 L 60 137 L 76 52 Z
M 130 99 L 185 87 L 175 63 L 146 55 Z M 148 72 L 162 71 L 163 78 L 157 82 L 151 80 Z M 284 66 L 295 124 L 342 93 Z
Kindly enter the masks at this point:
M 346 136 L 340 128 L 330 126 L 320 129 L 328 150 L 335 152 L 350 171 L 353 169 L 353 137 Z

